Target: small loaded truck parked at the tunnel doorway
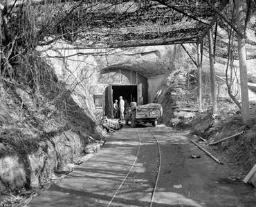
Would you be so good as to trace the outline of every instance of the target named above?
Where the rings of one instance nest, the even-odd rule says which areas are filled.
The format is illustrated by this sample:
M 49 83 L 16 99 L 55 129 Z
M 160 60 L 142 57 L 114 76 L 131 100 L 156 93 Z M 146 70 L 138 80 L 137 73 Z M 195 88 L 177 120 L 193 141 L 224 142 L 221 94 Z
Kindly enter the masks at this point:
M 159 103 L 149 103 L 140 106 L 131 106 L 125 111 L 125 124 L 131 122 L 131 127 L 137 124 L 151 123 L 157 125 L 158 119 L 163 115 L 163 108 Z

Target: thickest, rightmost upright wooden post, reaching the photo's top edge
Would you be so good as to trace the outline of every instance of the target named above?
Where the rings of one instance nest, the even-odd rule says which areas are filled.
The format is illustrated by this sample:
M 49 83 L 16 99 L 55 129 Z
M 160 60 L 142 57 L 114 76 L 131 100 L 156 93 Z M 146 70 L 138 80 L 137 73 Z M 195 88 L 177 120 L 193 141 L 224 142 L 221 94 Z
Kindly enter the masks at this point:
M 246 3 L 241 0 L 235 0 L 237 7 L 237 29 L 244 34 L 244 22 L 246 18 Z M 237 37 L 238 55 L 239 55 L 239 70 L 241 82 L 241 116 L 245 124 L 248 123 L 250 117 L 249 97 L 248 97 L 248 79 L 246 68 L 246 39 Z

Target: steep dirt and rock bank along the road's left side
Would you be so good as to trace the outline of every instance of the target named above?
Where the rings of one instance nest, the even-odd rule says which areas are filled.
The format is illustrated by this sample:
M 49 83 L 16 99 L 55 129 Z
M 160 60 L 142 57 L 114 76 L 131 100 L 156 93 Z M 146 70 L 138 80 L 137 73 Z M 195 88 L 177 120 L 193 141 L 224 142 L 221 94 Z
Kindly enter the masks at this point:
M 71 171 L 68 164 L 84 153 L 89 135 L 102 139 L 104 131 L 57 81 L 36 90 L 6 80 L 0 90 L 1 206 L 7 195 L 41 188 L 55 172 Z

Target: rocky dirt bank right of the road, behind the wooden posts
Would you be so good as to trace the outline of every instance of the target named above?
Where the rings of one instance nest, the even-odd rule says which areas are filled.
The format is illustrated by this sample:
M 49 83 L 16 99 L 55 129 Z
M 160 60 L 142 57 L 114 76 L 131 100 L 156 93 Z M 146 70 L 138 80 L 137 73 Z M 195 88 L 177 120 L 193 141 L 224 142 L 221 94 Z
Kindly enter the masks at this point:
M 197 102 L 196 73 L 184 70 L 174 71 L 167 78 L 165 92 L 157 101 L 163 105 L 163 123 L 176 128 L 190 129 L 192 134 L 209 142 L 217 141 L 237 132 L 243 135 L 223 141 L 208 150 L 221 157 L 222 161 L 235 168 L 238 174 L 246 175 L 256 163 L 255 148 L 255 103 L 250 102 L 250 124 L 244 125 L 235 103 L 228 97 L 222 81 L 217 81 L 219 116 L 212 117 L 208 75 L 203 74 L 204 112 L 199 114 Z

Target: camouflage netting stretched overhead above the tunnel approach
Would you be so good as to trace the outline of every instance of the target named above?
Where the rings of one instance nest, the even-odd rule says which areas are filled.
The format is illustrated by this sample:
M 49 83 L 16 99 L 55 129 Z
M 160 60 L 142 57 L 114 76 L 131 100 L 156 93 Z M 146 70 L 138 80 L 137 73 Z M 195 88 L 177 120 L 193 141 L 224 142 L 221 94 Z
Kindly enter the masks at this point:
M 222 10 L 228 1 L 211 3 Z M 12 6 L 13 2 L 9 8 Z M 33 0 L 17 1 L 14 10 L 6 14 L 10 27 L 15 25 L 13 34 L 34 27 L 30 38 L 37 36 L 35 43 L 39 45 L 65 37 L 77 46 L 86 47 L 196 42 L 215 14 L 203 0 Z M 20 14 L 21 11 L 26 12 Z M 25 19 L 30 22 L 25 23 Z

